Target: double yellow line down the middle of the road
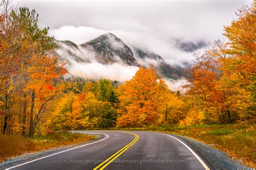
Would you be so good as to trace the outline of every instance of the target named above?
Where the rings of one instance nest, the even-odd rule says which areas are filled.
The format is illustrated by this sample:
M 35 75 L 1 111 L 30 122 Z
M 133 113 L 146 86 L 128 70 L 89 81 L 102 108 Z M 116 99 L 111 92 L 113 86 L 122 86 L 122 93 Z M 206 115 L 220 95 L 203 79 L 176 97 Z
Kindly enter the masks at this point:
M 123 132 L 123 133 L 130 133 L 130 132 Z M 102 164 L 99 164 L 97 167 L 95 167 L 93 170 L 96 170 L 99 168 L 100 170 L 104 169 L 107 165 L 109 165 L 113 160 L 117 159 L 122 153 L 124 153 L 129 147 L 131 147 L 133 144 L 136 143 L 136 141 L 139 139 L 138 134 L 135 133 L 130 133 L 133 134 L 135 136 L 135 138 L 129 143 L 127 144 L 125 147 L 123 147 L 122 149 L 120 149 L 119 151 L 117 151 L 116 153 L 114 153 L 111 157 L 107 158 L 106 160 L 104 160 L 104 162 L 102 162 Z M 104 166 L 103 166 L 104 165 Z

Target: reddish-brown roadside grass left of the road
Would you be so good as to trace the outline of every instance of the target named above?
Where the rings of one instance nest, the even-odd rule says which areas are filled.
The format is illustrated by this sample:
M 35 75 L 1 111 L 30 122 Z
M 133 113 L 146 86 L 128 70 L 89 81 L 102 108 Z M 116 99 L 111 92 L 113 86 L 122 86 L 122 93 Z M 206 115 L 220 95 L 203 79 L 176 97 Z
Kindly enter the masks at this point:
M 82 133 L 51 132 L 38 138 L 23 138 L 15 135 L 0 135 L 0 162 L 28 152 L 48 150 L 64 145 L 84 143 L 95 139 Z

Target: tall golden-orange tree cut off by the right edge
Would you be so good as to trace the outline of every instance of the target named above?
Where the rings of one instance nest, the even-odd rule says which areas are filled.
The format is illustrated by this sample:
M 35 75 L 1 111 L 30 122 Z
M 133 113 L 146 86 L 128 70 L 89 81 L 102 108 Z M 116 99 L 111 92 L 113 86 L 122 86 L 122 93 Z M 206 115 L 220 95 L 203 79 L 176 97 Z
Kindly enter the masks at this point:
M 242 120 L 255 117 L 255 5 L 240 9 L 237 16 L 237 20 L 224 28 L 224 36 L 228 39 L 226 45 L 229 47 L 224 53 L 231 57 L 221 69 L 226 72 L 223 81 L 230 84 L 233 91 L 231 106 Z

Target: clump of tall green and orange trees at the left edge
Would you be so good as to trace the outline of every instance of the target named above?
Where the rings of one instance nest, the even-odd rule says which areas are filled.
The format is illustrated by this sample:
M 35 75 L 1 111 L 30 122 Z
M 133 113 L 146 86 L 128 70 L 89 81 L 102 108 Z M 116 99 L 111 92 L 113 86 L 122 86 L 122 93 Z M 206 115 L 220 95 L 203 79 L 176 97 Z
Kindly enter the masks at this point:
M 5 13 L 1 23 L 3 48 L 0 53 L 0 79 L 1 96 L 5 103 L 2 130 L 6 133 L 8 129 L 10 133 L 12 122 L 17 116 L 22 117 L 22 135 L 25 136 L 30 105 L 29 136 L 32 137 L 46 103 L 52 99 L 49 94 L 53 91 L 56 94 L 56 90 L 60 90 L 58 83 L 60 76 L 65 74 L 65 69 L 51 55 L 53 38 L 48 36 L 49 28 L 39 29 L 36 11 L 28 8 L 8 11 L 10 12 Z M 16 100 L 23 103 L 19 104 Z

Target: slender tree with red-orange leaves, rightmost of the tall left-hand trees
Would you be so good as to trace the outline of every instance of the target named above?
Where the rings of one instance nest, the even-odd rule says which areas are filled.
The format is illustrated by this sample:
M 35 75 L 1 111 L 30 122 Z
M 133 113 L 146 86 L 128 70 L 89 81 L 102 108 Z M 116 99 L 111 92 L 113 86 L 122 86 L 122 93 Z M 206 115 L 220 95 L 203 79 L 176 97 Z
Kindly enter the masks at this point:
M 33 136 L 37 124 L 41 121 L 48 102 L 64 89 L 60 83 L 60 76 L 64 75 L 66 70 L 55 65 L 55 58 L 41 56 L 41 61 L 41 69 L 44 71 L 31 73 L 25 89 L 31 92 L 30 137 Z

